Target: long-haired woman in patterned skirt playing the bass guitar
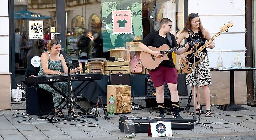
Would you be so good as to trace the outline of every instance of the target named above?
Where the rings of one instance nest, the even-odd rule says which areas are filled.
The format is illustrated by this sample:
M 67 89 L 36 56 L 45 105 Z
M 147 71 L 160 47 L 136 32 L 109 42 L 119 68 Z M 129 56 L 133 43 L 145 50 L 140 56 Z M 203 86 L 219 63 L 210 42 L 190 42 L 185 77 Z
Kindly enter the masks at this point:
M 203 28 L 200 18 L 198 17 L 198 14 L 191 13 L 188 15 L 186 25 L 189 30 L 191 30 L 191 36 L 192 39 L 198 39 L 201 38 L 203 40 L 203 43 L 201 43 L 197 49 L 199 49 L 201 46 L 205 44 L 205 39 L 209 41 L 211 39 L 210 33 L 207 29 Z M 188 35 L 188 31 L 185 29 L 182 30 L 179 38 L 177 39 L 177 43 L 179 44 L 183 39 L 187 39 L 187 41 L 191 41 L 190 37 Z M 213 49 L 215 46 L 215 43 L 212 41 L 210 44 L 206 44 L 206 48 Z M 189 50 L 192 48 L 192 46 L 189 47 Z M 211 85 L 211 75 L 210 75 L 210 69 L 209 69 L 209 61 L 208 61 L 208 53 L 206 48 L 204 48 L 200 56 L 203 58 L 203 63 L 205 65 L 205 68 L 203 67 L 202 62 L 195 64 L 195 71 L 196 71 L 196 115 L 201 115 L 201 110 L 199 109 L 200 106 L 200 94 L 198 90 L 198 86 L 201 86 L 203 89 L 203 95 L 204 95 L 204 101 L 206 105 L 206 114 L 205 117 L 212 117 L 211 110 L 210 110 L 210 89 L 208 86 Z M 192 55 L 194 57 L 194 55 Z M 180 55 L 181 59 L 183 59 L 185 62 L 187 60 L 187 56 L 184 54 Z M 192 94 L 194 96 L 194 69 L 189 74 L 186 74 L 186 85 L 192 86 Z M 194 111 L 189 113 L 189 115 L 194 115 Z

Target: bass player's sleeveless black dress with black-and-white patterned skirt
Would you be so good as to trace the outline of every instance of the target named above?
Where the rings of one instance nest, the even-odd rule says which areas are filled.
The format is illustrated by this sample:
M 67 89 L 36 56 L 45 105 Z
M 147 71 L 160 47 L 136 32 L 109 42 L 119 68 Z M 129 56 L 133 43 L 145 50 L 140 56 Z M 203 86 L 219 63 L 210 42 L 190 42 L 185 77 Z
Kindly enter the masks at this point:
M 192 39 L 199 39 L 201 38 L 203 40 L 203 43 L 200 44 L 197 48 L 200 48 L 203 46 L 206 42 L 206 40 L 203 37 L 203 34 L 201 31 L 198 31 L 198 33 L 194 33 L 191 31 Z M 190 41 L 190 38 L 187 38 L 187 41 Z M 190 50 L 192 46 L 189 47 L 188 50 Z M 209 68 L 209 58 L 208 58 L 208 52 L 206 48 L 204 48 L 200 52 L 200 56 L 204 57 L 202 59 L 204 66 L 202 62 L 195 64 L 195 71 L 196 71 L 196 86 L 210 86 L 211 85 L 211 75 L 210 75 L 210 68 Z M 186 74 L 186 85 L 194 86 L 194 68 L 192 69 L 191 73 Z

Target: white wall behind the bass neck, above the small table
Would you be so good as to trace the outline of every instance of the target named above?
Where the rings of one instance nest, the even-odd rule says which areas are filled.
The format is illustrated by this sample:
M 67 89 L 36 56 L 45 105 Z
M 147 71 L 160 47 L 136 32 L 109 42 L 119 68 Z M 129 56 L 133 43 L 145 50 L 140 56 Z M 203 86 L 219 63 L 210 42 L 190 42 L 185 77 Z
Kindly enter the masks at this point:
M 210 67 L 217 67 L 218 51 L 222 52 L 223 67 L 230 67 L 239 54 L 239 61 L 245 66 L 245 0 L 188 0 L 188 14 L 198 13 L 201 23 L 211 37 L 228 21 L 233 23 L 228 32 L 216 39 L 215 48 L 207 49 Z

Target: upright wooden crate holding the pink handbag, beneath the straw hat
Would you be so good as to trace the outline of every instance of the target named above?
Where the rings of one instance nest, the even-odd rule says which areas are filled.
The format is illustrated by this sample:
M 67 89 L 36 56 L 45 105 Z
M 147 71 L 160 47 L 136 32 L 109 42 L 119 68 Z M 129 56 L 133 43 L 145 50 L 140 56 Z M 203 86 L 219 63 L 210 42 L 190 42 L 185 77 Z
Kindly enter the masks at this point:
M 128 50 L 128 57 L 129 57 L 129 61 L 130 61 L 130 54 L 135 54 L 135 53 L 138 53 L 140 55 L 141 53 L 141 50 L 140 48 L 138 47 L 139 43 L 132 43 L 132 42 L 126 42 L 126 48 Z M 142 63 L 139 64 L 139 66 L 142 66 Z M 138 67 L 138 66 L 137 66 Z M 131 74 L 133 74 L 131 72 Z M 142 66 L 142 72 L 140 74 L 145 74 L 145 67 Z

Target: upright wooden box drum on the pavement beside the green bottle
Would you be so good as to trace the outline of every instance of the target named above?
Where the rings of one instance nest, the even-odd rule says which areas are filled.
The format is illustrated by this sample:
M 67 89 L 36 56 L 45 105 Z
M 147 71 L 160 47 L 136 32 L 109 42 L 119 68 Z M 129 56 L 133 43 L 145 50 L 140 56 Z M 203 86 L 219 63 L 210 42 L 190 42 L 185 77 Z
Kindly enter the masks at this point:
M 107 86 L 107 111 L 109 109 L 109 98 L 113 95 L 114 113 L 128 113 L 131 111 L 131 86 L 108 85 Z

